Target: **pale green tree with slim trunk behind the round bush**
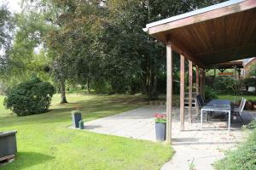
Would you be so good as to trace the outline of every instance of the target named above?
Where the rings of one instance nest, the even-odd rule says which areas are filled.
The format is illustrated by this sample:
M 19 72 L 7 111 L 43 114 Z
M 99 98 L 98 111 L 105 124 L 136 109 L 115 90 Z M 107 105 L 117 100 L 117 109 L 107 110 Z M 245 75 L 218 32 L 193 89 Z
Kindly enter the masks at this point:
M 49 8 L 48 4 L 47 1 L 23 1 L 22 12 L 15 15 L 17 31 L 9 70 L 5 74 L 11 78 L 5 80 L 11 85 L 24 82 L 32 75 L 37 75 L 45 81 L 50 81 L 53 77 L 56 84 L 61 86 L 61 103 L 67 103 L 65 80 L 63 81 L 65 77 L 63 74 L 57 76 L 64 69 L 60 67 L 54 49 L 49 48 L 46 41 L 49 33 L 57 29 L 55 23 L 49 19 L 59 11 L 58 8 Z

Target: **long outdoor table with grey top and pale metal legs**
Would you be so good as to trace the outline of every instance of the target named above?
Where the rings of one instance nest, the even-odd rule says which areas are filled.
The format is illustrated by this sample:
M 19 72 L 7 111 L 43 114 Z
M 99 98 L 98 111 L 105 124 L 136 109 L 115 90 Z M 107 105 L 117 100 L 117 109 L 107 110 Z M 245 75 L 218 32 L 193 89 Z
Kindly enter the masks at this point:
M 201 108 L 201 127 L 203 123 L 203 113 L 207 113 L 208 111 L 219 111 L 226 112 L 229 114 L 228 121 L 228 130 L 230 131 L 230 119 L 231 119 L 231 105 L 230 100 L 227 99 L 212 99 L 207 105 L 204 105 Z

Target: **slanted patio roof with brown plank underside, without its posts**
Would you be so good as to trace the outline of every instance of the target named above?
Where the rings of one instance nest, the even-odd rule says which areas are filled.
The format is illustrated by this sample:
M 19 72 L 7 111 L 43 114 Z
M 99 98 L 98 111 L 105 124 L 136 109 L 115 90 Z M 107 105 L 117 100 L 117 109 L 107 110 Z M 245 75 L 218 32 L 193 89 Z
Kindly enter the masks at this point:
M 148 24 L 144 31 L 201 67 L 254 57 L 256 0 L 218 3 Z

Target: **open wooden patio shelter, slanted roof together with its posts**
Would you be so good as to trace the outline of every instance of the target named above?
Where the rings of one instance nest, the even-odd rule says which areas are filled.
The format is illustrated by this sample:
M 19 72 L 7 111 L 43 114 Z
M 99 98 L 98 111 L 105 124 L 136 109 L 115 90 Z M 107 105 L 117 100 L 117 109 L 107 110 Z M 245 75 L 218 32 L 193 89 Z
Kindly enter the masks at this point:
M 189 122 L 192 67 L 196 94 L 204 94 L 205 69 L 256 56 L 256 0 L 231 0 L 148 24 L 143 29 L 166 43 L 166 140 L 172 141 L 172 50 L 180 54 L 180 129 L 184 130 L 184 60 L 189 59 Z

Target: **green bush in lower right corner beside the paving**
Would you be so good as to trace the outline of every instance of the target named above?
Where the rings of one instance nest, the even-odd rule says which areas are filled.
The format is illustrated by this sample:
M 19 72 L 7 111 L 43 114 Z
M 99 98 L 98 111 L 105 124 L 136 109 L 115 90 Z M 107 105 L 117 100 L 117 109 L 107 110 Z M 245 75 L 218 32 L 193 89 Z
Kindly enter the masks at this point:
M 255 122 L 251 123 L 252 127 L 256 127 Z M 214 167 L 217 170 L 256 169 L 256 130 L 253 129 L 246 142 L 241 143 L 236 150 L 227 152 L 226 157 L 217 161 Z

